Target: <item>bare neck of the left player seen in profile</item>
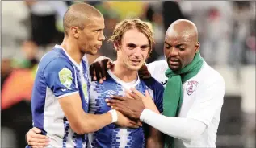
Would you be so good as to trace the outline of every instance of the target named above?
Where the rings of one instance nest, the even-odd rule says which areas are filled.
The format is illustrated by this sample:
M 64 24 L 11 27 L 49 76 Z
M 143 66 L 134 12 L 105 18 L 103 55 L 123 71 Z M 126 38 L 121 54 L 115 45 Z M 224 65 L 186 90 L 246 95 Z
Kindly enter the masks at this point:
M 61 47 L 69 54 L 69 56 L 77 63 L 80 64 L 82 61 L 82 52 L 80 51 L 77 44 L 75 44 L 75 40 L 70 39 L 65 36 L 63 42 L 61 43 Z

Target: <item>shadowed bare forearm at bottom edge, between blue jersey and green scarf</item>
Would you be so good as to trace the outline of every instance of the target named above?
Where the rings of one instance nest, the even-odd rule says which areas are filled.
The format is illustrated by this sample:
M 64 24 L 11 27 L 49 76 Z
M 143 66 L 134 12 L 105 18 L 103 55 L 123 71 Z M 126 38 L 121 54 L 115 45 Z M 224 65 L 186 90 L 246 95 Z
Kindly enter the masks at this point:
M 163 147 L 163 140 L 162 140 L 162 133 L 154 129 L 153 127 L 149 128 L 149 137 L 146 141 L 147 148 L 162 148 Z

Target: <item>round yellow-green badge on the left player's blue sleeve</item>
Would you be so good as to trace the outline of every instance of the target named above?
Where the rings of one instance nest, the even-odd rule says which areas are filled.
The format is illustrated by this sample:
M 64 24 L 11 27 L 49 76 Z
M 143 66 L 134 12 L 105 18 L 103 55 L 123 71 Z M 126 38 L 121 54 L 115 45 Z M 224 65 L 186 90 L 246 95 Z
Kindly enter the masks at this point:
M 69 68 L 63 68 L 59 72 L 59 79 L 61 81 L 61 84 L 63 84 L 66 88 L 70 88 L 72 84 L 72 72 L 69 70 Z

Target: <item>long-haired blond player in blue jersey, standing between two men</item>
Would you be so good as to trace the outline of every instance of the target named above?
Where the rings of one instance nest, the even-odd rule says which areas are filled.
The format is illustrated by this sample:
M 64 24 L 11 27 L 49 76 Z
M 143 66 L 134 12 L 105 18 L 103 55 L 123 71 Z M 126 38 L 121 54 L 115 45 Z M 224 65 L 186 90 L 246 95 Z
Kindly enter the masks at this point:
M 92 82 L 90 86 L 90 113 L 106 113 L 111 108 L 105 99 L 111 95 L 125 96 L 125 91 L 136 88 L 153 98 L 155 111 L 162 112 L 163 86 L 154 79 L 141 80 L 138 70 L 152 51 L 153 31 L 140 19 L 125 19 L 116 25 L 111 41 L 117 51 L 115 68 L 107 71 L 103 84 Z M 149 129 L 148 129 L 149 128 Z M 149 131 L 148 131 L 149 130 Z M 149 132 L 146 138 L 145 132 Z M 161 147 L 161 133 L 145 125 L 138 129 L 122 128 L 111 124 L 94 134 L 89 134 L 92 147 Z

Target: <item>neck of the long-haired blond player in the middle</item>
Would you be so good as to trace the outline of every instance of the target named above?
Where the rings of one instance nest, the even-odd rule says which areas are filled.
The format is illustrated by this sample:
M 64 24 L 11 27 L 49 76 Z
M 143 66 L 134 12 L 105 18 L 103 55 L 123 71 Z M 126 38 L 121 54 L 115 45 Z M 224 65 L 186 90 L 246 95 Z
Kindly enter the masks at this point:
M 114 68 L 111 68 L 111 72 L 124 82 L 132 82 L 132 80 L 136 80 L 138 76 L 138 71 L 132 71 L 118 61 L 115 62 Z

